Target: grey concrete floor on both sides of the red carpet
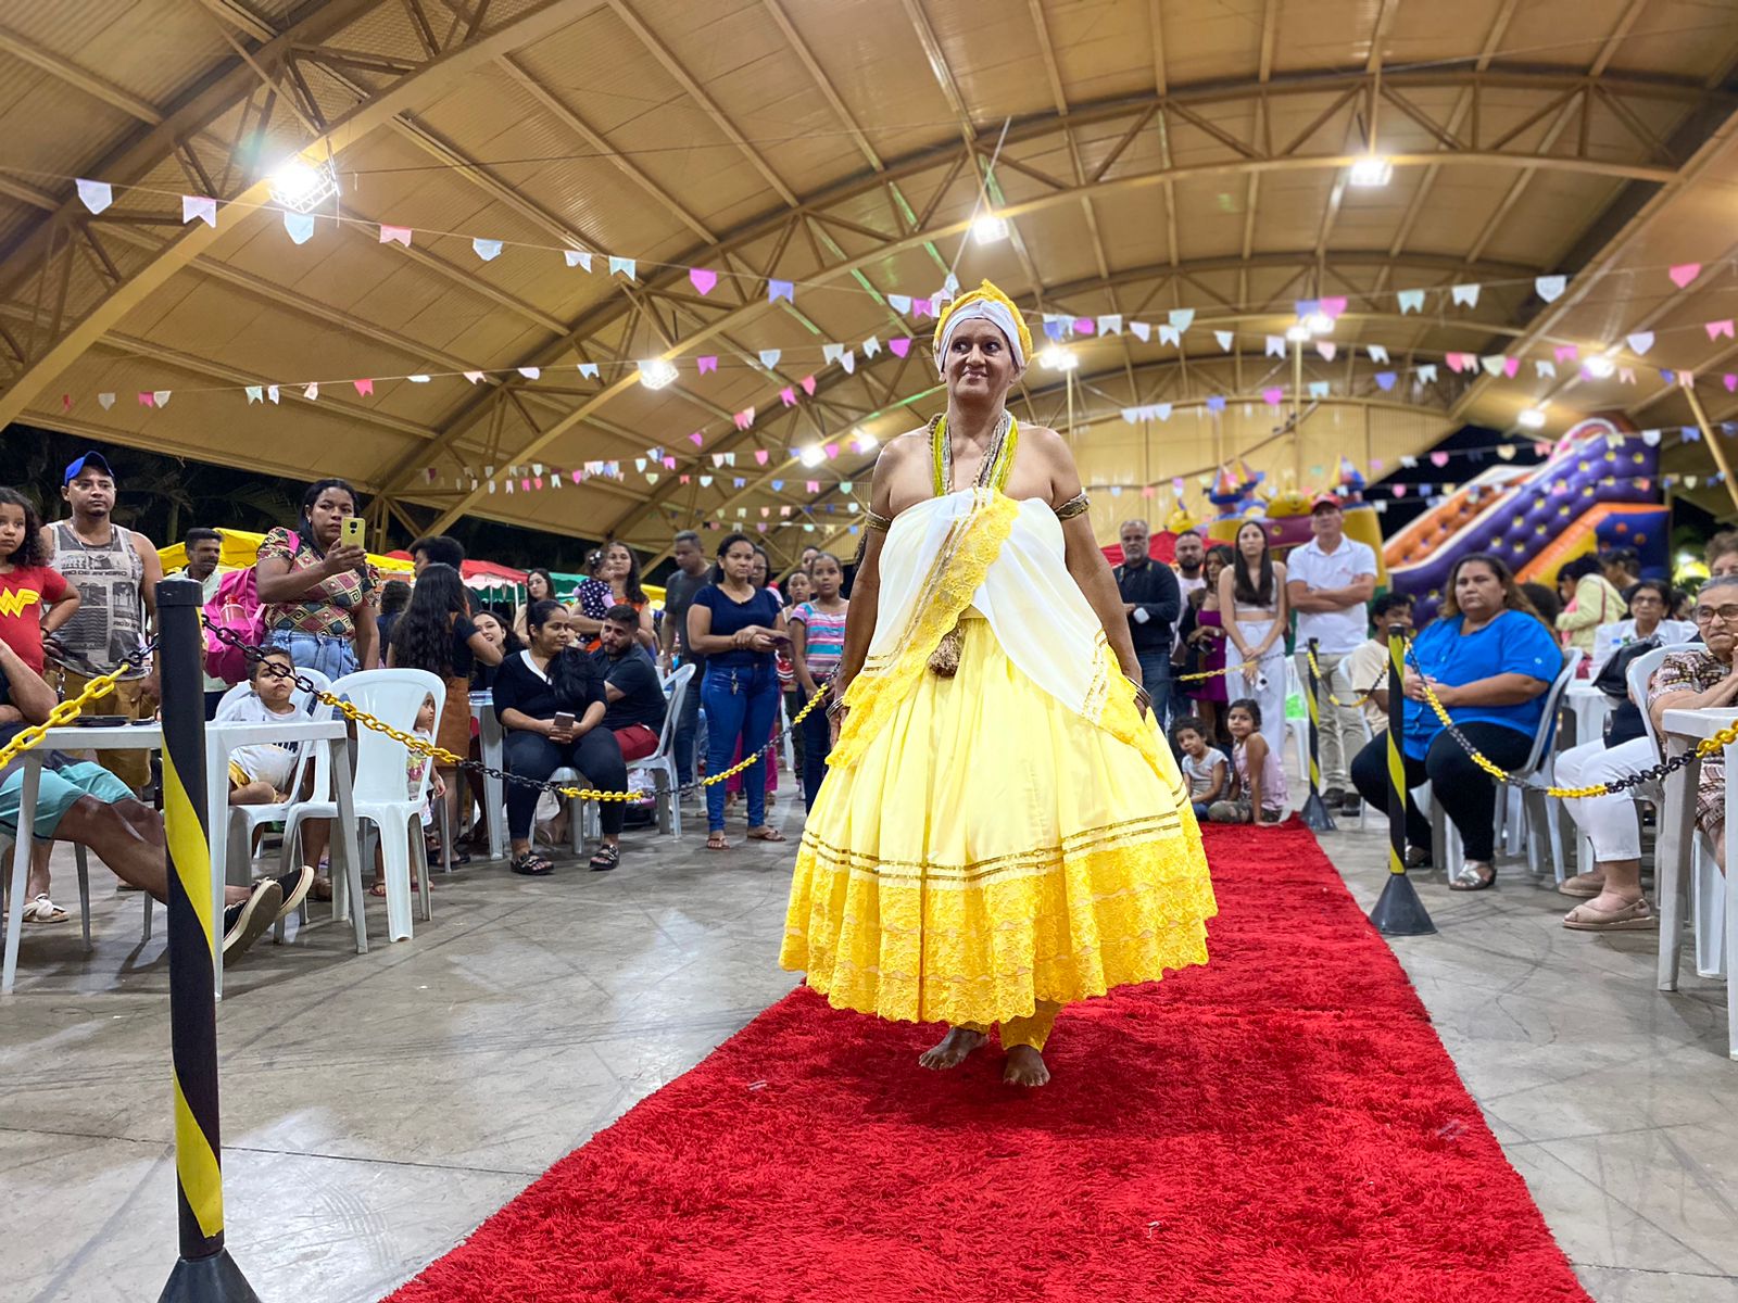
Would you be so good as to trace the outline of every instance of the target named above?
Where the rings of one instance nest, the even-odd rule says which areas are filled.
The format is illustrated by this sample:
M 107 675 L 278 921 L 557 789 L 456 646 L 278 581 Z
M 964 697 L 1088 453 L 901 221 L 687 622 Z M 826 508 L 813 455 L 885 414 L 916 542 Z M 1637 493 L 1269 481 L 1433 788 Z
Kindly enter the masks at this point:
M 1383 830 L 1323 844 L 1368 907 Z M 436 877 L 410 943 L 381 902 L 367 956 L 330 926 L 261 943 L 219 1011 L 229 1247 L 259 1294 L 381 1298 L 779 999 L 791 851 L 631 834 L 608 876 Z M 1568 933 L 1522 877 L 1423 877 L 1441 931 L 1397 954 L 1589 1293 L 1738 1303 L 1722 987 L 1655 994 L 1653 936 Z M 5 1300 L 130 1303 L 176 1258 L 163 929 L 141 947 L 137 896 L 94 895 L 97 950 L 31 929 L 0 1002 Z

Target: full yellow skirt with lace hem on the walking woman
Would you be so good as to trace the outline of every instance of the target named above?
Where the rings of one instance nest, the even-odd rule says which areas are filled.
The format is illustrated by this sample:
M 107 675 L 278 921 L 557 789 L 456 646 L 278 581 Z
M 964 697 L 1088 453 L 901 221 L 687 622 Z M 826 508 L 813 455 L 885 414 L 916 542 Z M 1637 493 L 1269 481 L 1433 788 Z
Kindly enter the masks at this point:
M 978 1025 L 1204 964 L 1217 905 L 1170 754 L 1067 711 L 987 620 L 961 631 L 958 674 L 925 672 L 827 773 L 780 964 L 834 1008 Z

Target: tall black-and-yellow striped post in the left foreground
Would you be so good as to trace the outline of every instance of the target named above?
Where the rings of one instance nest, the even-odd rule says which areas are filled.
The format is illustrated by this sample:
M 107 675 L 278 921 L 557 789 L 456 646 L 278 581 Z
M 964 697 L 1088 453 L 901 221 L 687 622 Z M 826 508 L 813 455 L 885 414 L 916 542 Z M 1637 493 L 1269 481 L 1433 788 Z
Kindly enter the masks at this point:
M 181 1260 L 158 1303 L 259 1303 L 222 1244 L 217 1131 L 217 1001 L 205 810 L 205 678 L 200 585 L 156 585 L 163 685 L 163 837 L 169 843 L 169 1037 L 176 1062 L 176 1202 Z M 212 926 L 217 923 L 219 926 Z

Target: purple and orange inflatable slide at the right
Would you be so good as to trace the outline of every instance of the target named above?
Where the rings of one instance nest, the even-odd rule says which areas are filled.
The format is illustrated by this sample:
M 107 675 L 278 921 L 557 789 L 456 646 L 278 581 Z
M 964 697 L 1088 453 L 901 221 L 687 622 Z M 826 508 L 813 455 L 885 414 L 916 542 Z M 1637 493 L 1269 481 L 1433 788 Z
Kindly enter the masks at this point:
M 1396 533 L 1383 549 L 1392 584 L 1434 608 L 1467 552 L 1500 556 L 1522 582 L 1556 584 L 1566 561 L 1601 547 L 1634 547 L 1642 573 L 1663 579 L 1670 528 L 1658 464 L 1658 448 L 1634 431 L 1583 420 L 1540 466 L 1496 466 Z

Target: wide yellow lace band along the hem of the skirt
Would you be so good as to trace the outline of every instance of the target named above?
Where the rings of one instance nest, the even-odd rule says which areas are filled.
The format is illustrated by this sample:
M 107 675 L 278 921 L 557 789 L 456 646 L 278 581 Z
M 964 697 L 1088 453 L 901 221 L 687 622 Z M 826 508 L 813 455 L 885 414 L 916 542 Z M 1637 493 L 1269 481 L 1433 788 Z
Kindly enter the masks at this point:
M 878 881 L 805 846 L 780 964 L 834 1008 L 994 1023 L 1204 964 L 1217 912 L 1192 818 L 1182 836 L 1058 853 L 1045 874 L 977 891 Z

